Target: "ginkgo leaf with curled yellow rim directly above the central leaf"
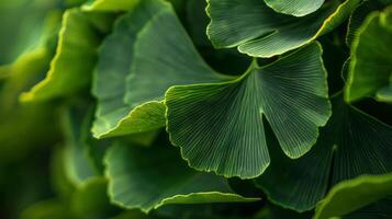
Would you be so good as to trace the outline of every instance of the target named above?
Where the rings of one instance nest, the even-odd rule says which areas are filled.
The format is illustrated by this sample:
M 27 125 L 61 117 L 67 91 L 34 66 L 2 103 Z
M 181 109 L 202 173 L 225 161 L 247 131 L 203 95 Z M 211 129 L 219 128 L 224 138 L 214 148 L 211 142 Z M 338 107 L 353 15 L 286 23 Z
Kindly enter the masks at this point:
M 359 2 L 328 1 L 317 12 L 295 18 L 277 13 L 261 0 L 209 0 L 208 35 L 216 48 L 238 47 L 249 56 L 272 57 L 332 31 Z

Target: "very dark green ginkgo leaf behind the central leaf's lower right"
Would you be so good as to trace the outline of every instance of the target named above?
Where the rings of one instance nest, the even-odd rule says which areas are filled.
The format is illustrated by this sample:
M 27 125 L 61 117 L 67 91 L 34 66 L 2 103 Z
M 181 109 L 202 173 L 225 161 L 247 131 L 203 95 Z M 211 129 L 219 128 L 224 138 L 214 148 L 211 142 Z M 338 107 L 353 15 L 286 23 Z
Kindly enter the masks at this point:
M 271 201 L 300 211 L 310 210 L 341 181 L 390 173 L 391 143 L 390 126 L 347 105 L 339 94 L 333 99 L 333 115 L 312 150 L 290 160 L 277 147 L 272 148 L 272 163 L 255 183 Z

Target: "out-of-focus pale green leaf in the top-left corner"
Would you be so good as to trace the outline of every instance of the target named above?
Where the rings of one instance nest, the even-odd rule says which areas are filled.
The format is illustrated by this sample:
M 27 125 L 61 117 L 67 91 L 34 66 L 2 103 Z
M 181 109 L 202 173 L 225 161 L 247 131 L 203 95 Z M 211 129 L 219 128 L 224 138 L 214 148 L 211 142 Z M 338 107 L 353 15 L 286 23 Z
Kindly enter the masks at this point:
M 13 62 L 42 44 L 47 25 L 60 13 L 59 0 L 0 2 L 0 66 Z

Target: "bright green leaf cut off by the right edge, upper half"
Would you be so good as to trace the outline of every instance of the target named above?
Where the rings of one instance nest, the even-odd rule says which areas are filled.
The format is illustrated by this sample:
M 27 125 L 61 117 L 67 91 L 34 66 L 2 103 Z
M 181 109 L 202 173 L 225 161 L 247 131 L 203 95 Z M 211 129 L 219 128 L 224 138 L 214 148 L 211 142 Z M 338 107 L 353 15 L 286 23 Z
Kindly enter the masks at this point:
M 348 102 L 376 95 L 392 102 L 392 7 L 372 12 L 358 28 L 345 90 Z

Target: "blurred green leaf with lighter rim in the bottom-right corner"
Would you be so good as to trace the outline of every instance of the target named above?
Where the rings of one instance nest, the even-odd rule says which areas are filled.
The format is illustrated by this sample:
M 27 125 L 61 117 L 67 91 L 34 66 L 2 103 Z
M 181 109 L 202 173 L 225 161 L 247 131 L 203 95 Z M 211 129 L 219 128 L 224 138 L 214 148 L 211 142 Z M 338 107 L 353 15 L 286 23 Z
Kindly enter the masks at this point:
M 314 219 L 344 216 L 389 195 L 392 195 L 392 174 L 343 181 L 317 206 Z

